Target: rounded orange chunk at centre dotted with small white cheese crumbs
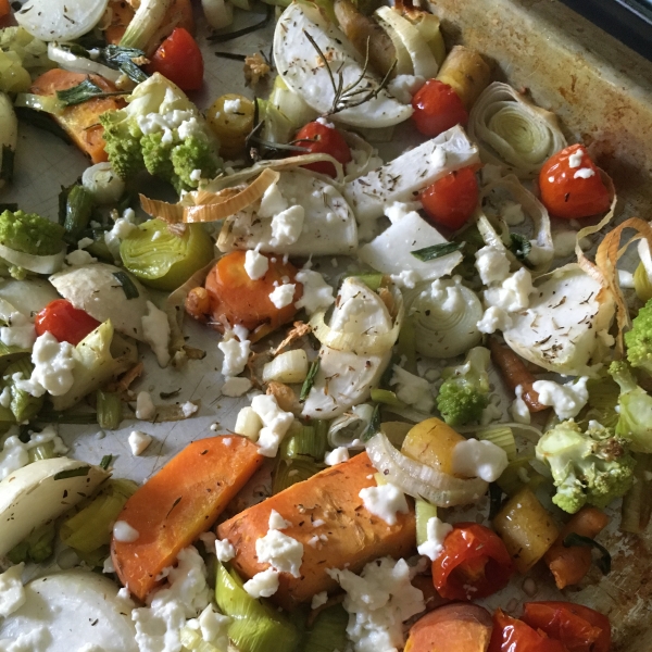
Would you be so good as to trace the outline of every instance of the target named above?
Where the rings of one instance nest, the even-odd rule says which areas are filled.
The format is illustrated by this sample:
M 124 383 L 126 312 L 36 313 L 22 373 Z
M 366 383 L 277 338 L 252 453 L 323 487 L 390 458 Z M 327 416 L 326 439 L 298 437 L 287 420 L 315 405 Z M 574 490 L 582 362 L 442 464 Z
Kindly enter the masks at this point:
M 284 263 L 283 256 L 265 258 L 267 271 L 258 279 L 252 279 L 244 268 L 244 251 L 221 258 L 209 273 L 205 287 L 189 292 L 187 312 L 196 318 L 209 319 L 221 331 L 237 324 L 255 330 L 250 337 L 252 341 L 289 322 L 297 313 L 294 302 L 303 294 L 303 286 L 294 280 L 297 268 Z M 294 293 L 286 305 L 277 308 L 269 294 L 286 284 L 294 284 Z M 278 304 L 283 303 L 280 299 Z

